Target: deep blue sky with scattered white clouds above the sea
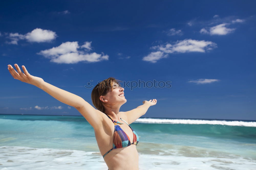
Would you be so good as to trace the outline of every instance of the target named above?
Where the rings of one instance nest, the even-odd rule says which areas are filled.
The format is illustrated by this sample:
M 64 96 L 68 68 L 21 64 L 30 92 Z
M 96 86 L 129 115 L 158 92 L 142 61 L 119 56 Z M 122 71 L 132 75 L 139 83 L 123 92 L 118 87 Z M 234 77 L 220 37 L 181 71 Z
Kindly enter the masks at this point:
M 7 65 L 91 102 L 98 81 L 171 81 L 124 90 L 146 117 L 256 120 L 254 1 L 5 1 L 0 6 L 1 114 L 80 115 Z

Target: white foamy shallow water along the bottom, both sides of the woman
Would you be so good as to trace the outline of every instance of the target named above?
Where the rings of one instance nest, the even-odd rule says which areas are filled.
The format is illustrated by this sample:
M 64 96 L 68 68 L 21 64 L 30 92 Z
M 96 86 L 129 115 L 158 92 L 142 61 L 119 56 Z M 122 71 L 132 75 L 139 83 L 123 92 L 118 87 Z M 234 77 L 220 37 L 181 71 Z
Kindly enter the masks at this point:
M 226 157 L 187 157 L 152 154 L 139 154 L 139 168 L 147 170 L 216 170 L 216 169 L 255 169 L 256 160 L 238 155 Z M 0 170 L 90 170 L 108 169 L 100 152 L 79 150 L 0 147 Z

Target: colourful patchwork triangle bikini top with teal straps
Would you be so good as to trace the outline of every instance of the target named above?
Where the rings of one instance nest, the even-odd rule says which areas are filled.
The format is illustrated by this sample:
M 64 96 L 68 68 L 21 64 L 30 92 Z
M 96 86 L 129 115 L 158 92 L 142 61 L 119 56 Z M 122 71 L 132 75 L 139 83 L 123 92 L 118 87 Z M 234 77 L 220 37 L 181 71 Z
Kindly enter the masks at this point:
M 106 114 L 107 115 L 107 114 Z M 109 115 L 107 115 L 109 117 Z M 114 130 L 114 136 L 113 136 L 113 148 L 110 149 L 107 153 L 105 153 L 103 155 L 103 158 L 106 154 L 108 154 L 110 151 L 112 151 L 113 149 L 116 148 L 124 148 L 127 146 L 130 146 L 131 144 L 137 145 L 139 142 L 139 136 L 137 135 L 137 133 L 131 128 L 130 125 L 128 125 L 128 123 L 125 122 L 125 120 L 123 120 L 121 117 L 120 119 L 123 120 L 131 129 L 133 132 L 133 143 L 131 143 L 129 136 L 121 129 L 121 127 L 119 125 L 122 125 L 123 123 L 118 122 L 113 120 L 111 117 L 109 117 L 112 122 L 115 125 L 115 130 Z M 118 125 L 119 124 L 119 125 Z

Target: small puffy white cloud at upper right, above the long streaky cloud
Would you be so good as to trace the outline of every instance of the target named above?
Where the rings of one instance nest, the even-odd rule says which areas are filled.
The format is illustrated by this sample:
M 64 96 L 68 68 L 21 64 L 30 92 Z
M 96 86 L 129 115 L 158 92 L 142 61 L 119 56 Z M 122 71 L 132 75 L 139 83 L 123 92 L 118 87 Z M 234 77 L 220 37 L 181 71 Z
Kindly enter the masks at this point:
M 210 34 L 210 35 L 226 35 L 235 30 L 235 28 L 227 28 L 226 26 L 230 25 L 229 23 L 219 24 L 217 26 L 211 27 L 209 30 L 202 28 L 200 33 Z

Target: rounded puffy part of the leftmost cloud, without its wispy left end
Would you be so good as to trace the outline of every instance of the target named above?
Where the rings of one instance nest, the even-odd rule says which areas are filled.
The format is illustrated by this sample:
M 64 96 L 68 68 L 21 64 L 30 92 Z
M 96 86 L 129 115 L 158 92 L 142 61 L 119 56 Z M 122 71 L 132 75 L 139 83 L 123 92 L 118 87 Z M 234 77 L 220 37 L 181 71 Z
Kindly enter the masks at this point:
M 50 42 L 57 37 L 57 34 L 51 30 L 42 30 L 36 28 L 33 31 L 27 33 L 25 38 L 29 42 Z

